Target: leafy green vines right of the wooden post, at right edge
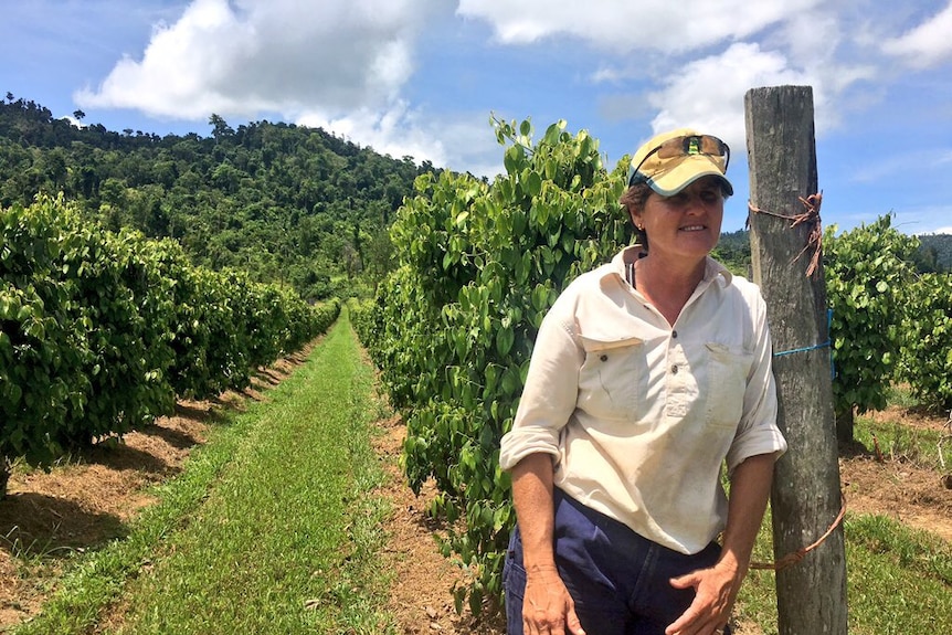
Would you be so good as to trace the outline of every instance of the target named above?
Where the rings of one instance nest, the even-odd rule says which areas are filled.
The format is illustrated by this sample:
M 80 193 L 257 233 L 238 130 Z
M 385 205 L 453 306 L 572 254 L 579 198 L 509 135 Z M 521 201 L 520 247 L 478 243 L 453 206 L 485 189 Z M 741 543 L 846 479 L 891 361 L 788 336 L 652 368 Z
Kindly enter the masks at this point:
M 952 409 L 952 276 L 917 275 L 919 240 L 891 215 L 824 236 L 838 414 L 886 408 L 901 383 L 923 403 Z

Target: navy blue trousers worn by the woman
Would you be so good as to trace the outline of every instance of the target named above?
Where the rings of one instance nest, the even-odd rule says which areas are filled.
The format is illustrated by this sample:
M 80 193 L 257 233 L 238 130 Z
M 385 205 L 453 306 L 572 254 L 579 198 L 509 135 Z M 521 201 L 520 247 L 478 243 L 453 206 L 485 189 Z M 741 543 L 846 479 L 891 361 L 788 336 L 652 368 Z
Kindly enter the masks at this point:
M 712 567 L 720 547 L 692 555 L 643 538 L 556 488 L 556 564 L 590 635 L 664 635 L 694 600 L 669 580 Z M 509 635 L 522 635 L 526 570 L 517 527 L 503 570 Z M 724 631 L 730 634 L 730 629 Z

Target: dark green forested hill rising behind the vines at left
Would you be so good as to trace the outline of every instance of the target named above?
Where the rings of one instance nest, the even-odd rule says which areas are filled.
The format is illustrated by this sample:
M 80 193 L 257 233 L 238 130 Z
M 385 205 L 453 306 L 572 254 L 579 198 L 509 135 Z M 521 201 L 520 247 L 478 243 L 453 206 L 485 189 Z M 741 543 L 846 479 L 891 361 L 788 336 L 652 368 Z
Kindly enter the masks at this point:
M 320 128 L 266 120 L 210 137 L 107 130 L 0 99 L 0 205 L 63 192 L 109 229 L 178 240 L 198 265 L 240 267 L 319 299 L 385 267 L 384 229 L 435 170 Z

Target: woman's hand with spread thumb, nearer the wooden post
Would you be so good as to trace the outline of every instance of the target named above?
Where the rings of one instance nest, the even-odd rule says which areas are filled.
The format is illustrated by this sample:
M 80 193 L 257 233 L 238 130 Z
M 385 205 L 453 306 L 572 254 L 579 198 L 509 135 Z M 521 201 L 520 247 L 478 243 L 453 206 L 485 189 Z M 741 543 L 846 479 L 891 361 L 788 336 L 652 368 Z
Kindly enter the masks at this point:
M 695 590 L 695 600 L 688 610 L 665 629 L 665 635 L 713 635 L 722 633 L 730 618 L 743 575 L 724 567 L 692 571 L 673 579 L 675 589 Z

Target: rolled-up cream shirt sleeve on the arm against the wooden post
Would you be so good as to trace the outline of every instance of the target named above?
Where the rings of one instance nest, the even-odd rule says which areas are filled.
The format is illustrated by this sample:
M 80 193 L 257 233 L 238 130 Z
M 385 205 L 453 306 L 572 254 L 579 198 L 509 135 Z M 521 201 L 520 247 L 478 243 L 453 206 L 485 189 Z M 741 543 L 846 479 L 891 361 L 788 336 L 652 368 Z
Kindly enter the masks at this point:
M 752 303 L 757 339 L 754 360 L 747 380 L 743 395 L 743 414 L 733 443 L 727 454 L 728 473 L 759 454 L 778 456 L 786 452 L 786 440 L 776 426 L 776 382 L 773 378 L 770 329 L 766 324 L 766 306 L 758 294 Z

